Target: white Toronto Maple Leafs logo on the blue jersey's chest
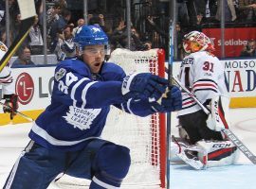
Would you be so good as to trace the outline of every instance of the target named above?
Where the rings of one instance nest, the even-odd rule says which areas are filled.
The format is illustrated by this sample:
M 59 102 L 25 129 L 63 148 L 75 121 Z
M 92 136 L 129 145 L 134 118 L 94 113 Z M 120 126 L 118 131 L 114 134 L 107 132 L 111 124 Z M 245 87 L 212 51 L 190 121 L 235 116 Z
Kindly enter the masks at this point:
M 90 129 L 93 120 L 99 115 L 101 109 L 81 109 L 69 106 L 64 119 L 67 123 L 78 129 Z

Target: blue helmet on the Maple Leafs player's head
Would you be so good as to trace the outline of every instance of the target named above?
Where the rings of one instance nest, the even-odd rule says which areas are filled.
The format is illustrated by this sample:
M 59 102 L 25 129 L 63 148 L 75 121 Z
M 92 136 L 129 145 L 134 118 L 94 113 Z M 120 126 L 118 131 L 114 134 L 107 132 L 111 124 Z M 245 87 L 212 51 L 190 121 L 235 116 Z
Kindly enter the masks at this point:
M 82 26 L 76 32 L 74 42 L 79 47 L 81 55 L 84 47 L 88 45 L 104 44 L 107 49 L 108 37 L 101 26 Z

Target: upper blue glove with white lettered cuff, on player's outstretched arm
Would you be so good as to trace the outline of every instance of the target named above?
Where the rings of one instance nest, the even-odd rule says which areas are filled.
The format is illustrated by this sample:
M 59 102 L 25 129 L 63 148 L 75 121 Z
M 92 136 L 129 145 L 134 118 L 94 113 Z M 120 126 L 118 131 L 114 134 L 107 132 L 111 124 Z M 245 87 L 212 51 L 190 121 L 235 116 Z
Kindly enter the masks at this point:
M 167 88 L 168 80 L 149 73 L 133 74 L 124 77 L 121 93 L 126 99 L 149 98 L 156 101 Z

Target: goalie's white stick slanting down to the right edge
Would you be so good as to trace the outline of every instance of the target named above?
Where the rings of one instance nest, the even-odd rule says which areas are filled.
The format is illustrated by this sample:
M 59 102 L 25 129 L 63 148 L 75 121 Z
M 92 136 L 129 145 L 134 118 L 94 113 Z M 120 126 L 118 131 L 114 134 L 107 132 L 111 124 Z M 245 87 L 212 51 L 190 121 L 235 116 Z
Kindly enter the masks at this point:
M 173 77 L 174 82 L 186 93 L 189 94 L 192 99 L 202 108 L 202 110 L 207 113 L 210 114 L 210 110 L 207 109 L 197 98 L 194 94 L 192 94 L 186 87 L 184 87 L 181 82 L 179 82 L 176 78 Z M 221 114 L 222 112 L 217 112 L 219 113 L 219 117 L 220 119 L 223 120 L 223 123 L 225 124 L 226 128 L 229 128 L 228 123 L 225 120 L 225 117 L 223 114 Z M 241 140 L 238 139 L 238 137 L 230 130 L 230 129 L 222 129 L 222 132 L 224 132 L 226 134 L 226 136 L 229 138 L 229 140 L 235 145 L 237 146 L 247 157 L 247 159 L 251 162 L 256 164 L 256 156 L 247 148 L 247 146 L 245 146 Z

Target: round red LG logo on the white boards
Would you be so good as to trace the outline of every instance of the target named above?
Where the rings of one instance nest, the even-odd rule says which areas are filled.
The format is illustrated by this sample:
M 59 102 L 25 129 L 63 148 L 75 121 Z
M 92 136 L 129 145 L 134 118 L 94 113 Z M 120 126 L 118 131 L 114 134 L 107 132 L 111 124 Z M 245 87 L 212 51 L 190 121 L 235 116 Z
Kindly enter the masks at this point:
M 19 96 L 19 102 L 23 105 L 28 104 L 34 94 L 34 82 L 27 73 L 20 74 L 16 79 L 16 94 Z

